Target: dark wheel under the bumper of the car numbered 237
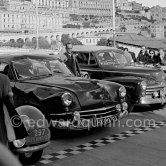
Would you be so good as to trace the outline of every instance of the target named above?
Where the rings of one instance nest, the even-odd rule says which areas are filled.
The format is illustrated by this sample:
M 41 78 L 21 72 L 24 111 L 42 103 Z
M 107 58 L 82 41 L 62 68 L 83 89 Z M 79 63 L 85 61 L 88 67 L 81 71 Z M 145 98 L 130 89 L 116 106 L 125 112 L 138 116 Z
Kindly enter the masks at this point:
M 32 153 L 24 153 L 19 154 L 19 160 L 23 165 L 33 165 L 36 164 L 43 154 L 43 150 L 32 152 Z

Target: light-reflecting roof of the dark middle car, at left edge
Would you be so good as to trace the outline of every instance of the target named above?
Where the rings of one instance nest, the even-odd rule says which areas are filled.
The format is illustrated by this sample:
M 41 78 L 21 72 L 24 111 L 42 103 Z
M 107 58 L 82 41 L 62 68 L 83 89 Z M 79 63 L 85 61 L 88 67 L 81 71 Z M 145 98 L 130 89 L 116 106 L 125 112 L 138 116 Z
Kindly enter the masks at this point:
M 14 60 L 23 57 L 58 59 L 58 57 L 53 54 L 52 50 L 0 49 L 0 58 Z

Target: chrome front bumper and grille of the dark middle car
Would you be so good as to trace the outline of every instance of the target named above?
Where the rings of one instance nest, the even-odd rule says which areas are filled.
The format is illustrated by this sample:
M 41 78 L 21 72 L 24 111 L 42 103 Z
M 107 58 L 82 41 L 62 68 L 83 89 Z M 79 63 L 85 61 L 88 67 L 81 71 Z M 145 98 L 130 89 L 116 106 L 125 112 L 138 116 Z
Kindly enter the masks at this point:
M 112 107 L 111 107 L 112 108 Z M 127 110 L 114 110 L 109 107 L 79 112 L 79 118 L 73 120 L 52 120 L 51 125 L 56 129 L 89 130 L 94 127 L 105 127 L 113 121 L 127 116 Z

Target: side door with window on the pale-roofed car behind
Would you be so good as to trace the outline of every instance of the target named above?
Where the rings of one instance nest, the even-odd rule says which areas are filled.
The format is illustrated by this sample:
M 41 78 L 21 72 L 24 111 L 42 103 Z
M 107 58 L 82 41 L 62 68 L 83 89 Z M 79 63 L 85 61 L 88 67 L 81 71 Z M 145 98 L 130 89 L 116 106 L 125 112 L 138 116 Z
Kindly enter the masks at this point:
M 92 52 L 77 53 L 77 61 L 81 71 L 88 72 L 90 78 L 103 79 L 103 72 L 100 69 L 96 57 Z

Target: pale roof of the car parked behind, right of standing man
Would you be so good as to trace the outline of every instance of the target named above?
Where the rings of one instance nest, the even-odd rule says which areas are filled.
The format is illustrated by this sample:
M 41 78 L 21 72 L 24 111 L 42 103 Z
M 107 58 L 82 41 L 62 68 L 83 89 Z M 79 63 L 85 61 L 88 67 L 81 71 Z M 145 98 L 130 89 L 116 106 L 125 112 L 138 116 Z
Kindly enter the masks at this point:
M 73 46 L 73 51 L 96 52 L 101 50 L 118 50 L 118 49 L 116 47 L 109 47 L 109 46 L 93 46 L 93 45 Z

